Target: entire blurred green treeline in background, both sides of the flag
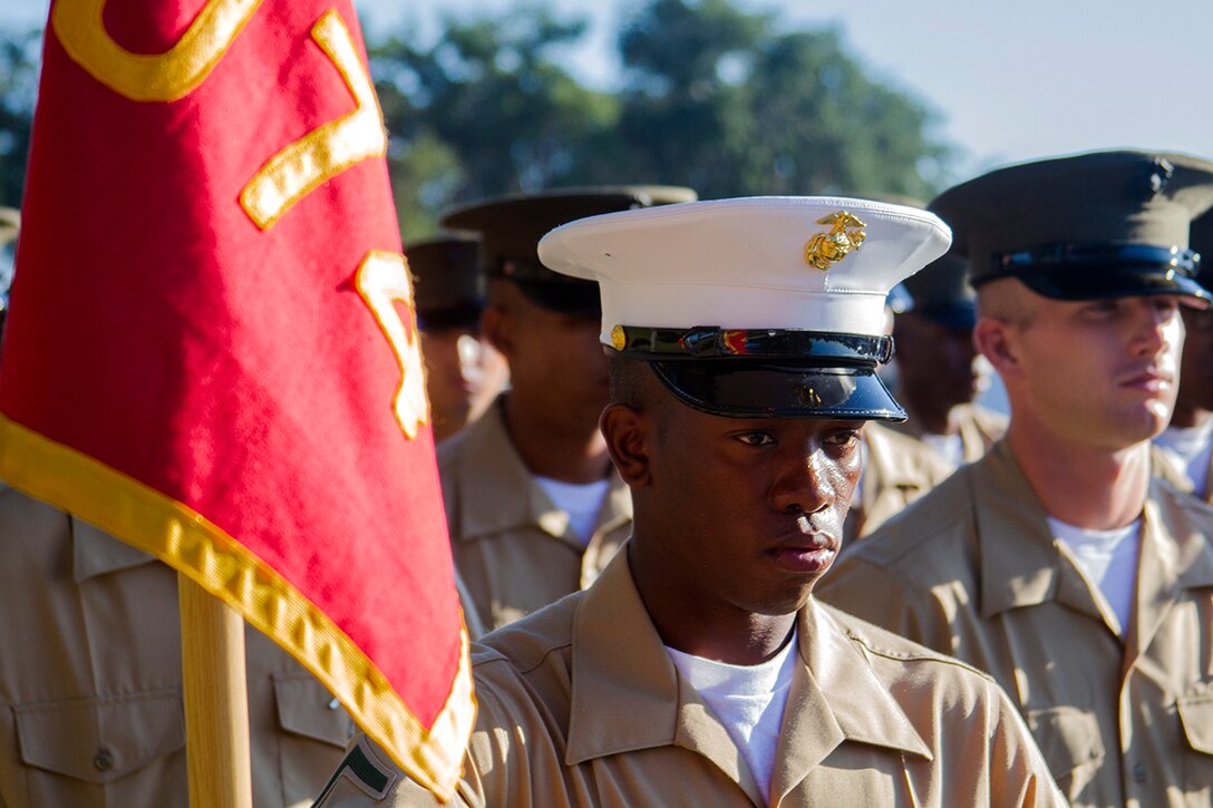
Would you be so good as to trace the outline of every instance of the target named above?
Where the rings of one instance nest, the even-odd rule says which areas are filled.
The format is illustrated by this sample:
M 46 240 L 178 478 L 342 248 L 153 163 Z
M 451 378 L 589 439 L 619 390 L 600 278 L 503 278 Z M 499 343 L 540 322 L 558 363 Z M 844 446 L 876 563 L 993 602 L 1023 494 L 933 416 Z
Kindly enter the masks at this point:
M 927 106 L 873 78 L 832 29 L 786 30 L 738 0 L 639 0 L 611 90 L 569 66 L 587 22 L 536 2 L 416 30 L 368 28 L 406 241 L 471 199 L 671 183 L 705 199 L 929 199 L 955 159 Z M 0 32 L 0 204 L 19 200 L 40 34 Z

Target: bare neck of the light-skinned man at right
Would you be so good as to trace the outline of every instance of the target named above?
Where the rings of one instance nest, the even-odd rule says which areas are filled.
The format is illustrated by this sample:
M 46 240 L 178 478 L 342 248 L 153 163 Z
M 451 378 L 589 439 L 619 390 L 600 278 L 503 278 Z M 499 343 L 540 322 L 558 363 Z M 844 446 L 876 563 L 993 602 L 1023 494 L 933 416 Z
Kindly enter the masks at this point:
M 1141 516 L 1150 488 L 1147 442 L 1121 450 L 1097 449 L 1023 428 L 1014 419 L 1007 440 L 1046 513 L 1054 519 L 1111 530 Z

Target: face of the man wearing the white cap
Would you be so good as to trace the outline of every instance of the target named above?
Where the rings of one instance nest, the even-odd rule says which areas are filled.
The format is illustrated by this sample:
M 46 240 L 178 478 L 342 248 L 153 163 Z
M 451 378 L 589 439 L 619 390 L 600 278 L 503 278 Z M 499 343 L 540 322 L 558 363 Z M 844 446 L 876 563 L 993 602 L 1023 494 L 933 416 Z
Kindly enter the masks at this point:
M 798 609 L 841 548 L 862 422 L 729 419 L 670 403 L 648 428 L 637 541 L 662 559 L 668 594 L 700 609 Z

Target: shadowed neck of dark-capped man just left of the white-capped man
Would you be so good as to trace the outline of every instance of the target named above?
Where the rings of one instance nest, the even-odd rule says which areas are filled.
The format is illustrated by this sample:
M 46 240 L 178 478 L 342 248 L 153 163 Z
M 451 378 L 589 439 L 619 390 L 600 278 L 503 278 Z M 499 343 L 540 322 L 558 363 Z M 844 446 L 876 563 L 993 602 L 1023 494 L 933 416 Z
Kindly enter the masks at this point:
M 552 419 L 512 403 L 511 397 L 506 397 L 502 412 L 506 433 L 531 474 L 562 483 L 588 484 L 610 472 L 606 442 L 597 423 L 562 429 Z

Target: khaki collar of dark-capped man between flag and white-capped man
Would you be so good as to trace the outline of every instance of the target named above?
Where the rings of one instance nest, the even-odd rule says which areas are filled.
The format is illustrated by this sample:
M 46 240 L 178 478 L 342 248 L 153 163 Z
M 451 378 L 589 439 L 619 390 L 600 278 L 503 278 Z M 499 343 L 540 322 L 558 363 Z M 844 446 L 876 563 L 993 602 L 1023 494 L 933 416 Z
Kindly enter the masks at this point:
M 456 438 L 460 451 L 468 459 L 460 465 L 457 480 L 463 491 L 459 505 L 461 537 L 480 539 L 537 528 L 580 547 L 581 542 L 569 529 L 569 514 L 543 493 L 511 443 L 501 402 L 499 398 Z M 614 467 L 610 480 L 610 493 L 598 517 L 599 530 L 632 518 L 631 494 Z

